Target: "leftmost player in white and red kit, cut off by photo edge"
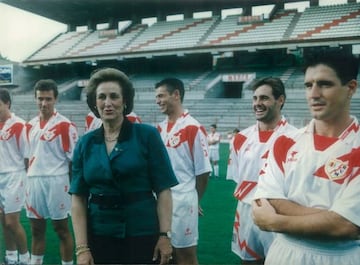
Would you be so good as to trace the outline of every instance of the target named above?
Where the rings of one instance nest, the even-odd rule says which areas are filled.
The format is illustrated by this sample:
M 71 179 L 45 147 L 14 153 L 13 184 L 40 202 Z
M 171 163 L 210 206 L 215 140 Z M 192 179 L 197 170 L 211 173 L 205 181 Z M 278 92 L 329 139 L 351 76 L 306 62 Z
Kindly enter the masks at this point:
M 0 217 L 5 264 L 28 264 L 30 255 L 20 212 L 25 202 L 25 121 L 11 113 L 11 97 L 0 89 Z M 19 255 L 19 260 L 18 260 Z

